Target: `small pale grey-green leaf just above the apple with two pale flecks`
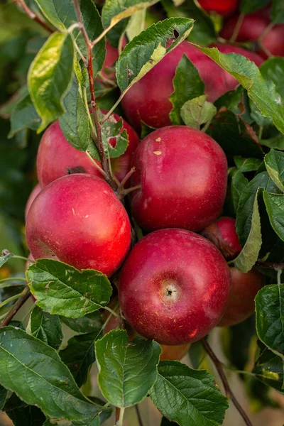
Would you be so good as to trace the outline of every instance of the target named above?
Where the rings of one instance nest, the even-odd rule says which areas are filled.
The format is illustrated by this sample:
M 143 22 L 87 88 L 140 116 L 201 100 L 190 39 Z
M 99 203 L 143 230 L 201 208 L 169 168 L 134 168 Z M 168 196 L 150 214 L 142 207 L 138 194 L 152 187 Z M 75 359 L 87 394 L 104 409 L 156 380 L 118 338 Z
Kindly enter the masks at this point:
M 207 126 L 212 121 L 217 108 L 211 102 L 207 102 L 206 98 L 205 95 L 196 97 L 182 106 L 180 115 L 187 126 L 200 130 L 202 124 Z

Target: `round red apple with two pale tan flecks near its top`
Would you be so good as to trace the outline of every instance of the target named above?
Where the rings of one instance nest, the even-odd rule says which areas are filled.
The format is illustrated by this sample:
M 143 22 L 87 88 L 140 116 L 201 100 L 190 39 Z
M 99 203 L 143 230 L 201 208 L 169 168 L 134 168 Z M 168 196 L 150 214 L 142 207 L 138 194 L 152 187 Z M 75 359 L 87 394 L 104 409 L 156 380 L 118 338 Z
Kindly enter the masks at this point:
M 133 156 L 131 209 L 143 229 L 200 231 L 219 217 L 226 196 L 227 163 L 210 136 L 188 126 L 150 133 Z

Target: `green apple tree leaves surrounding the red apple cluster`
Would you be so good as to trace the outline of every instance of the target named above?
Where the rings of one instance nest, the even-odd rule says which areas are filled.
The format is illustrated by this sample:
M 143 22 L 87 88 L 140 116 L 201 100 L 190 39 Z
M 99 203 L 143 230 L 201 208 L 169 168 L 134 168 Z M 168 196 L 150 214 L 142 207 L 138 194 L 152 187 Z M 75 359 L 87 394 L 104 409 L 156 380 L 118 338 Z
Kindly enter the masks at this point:
M 16 3 L 21 5 L 21 1 Z M 1 61 L 4 70 L 17 67 L 11 82 L 16 95 L 6 103 L 1 98 L 2 129 L 7 133 L 4 119 L 11 121 L 10 139 L 1 140 L 0 145 L 1 227 L 6 223 L 1 244 L 10 249 L 0 257 L 1 320 L 26 283 L 36 299 L 28 317 L 20 315 L 0 329 L 1 410 L 16 426 L 99 426 L 112 410 L 124 412 L 151 398 L 164 416 L 161 425 L 222 425 L 229 401 L 214 377 L 200 368 L 204 351 L 199 342 L 190 349 L 194 368 L 179 361 L 159 361 L 161 349 L 156 342 L 137 338 L 129 343 L 122 329 L 103 334 L 101 312 L 112 293 L 104 274 L 41 259 L 31 263 L 26 277 L 23 275 L 23 260 L 13 254 L 23 253 L 21 212 L 15 206 L 23 207 L 31 189 L 30 183 L 26 187 L 21 184 L 31 172 L 28 153 L 35 155 L 38 134 L 56 119 L 72 146 L 99 159 L 92 138 L 89 78 L 82 60 L 82 55 L 87 55 L 82 26 L 94 42 L 93 77 L 99 77 L 94 81 L 94 92 L 104 110 L 114 106 L 119 112 L 119 101 L 129 88 L 182 40 L 197 45 L 240 85 L 214 104 L 207 102 L 204 83 L 184 56 L 173 78 L 170 119 L 173 124 L 206 131 L 227 155 L 229 188 L 224 212 L 236 217 L 243 248 L 234 264 L 247 272 L 258 263 L 267 285 L 256 296 L 256 320 L 253 317 L 223 330 L 224 351 L 231 368 L 244 371 L 249 347 L 257 337 L 254 366 L 248 370 L 249 376 L 242 373 L 241 378 L 251 401 L 258 400 L 261 407 L 275 405 L 269 389 L 284 393 L 284 58 L 270 58 L 258 69 L 241 55 L 201 48 L 217 40 L 216 22 L 193 0 L 97 3 L 78 1 L 82 21 L 78 24 L 72 0 L 26 1 L 50 31 L 30 21 L 15 4 L 1 5 L 0 9 L 1 21 L 6 20 L 5 13 L 15 21 L 11 23 L 13 36 L 6 35 L 1 41 Z M 266 4 L 268 1 L 241 0 L 240 10 L 251 13 Z M 271 19 L 284 22 L 283 1 L 273 1 Z M 101 71 L 106 38 L 111 45 L 121 46 L 125 33 L 128 43 L 116 62 L 116 82 L 105 84 Z M 174 42 L 168 45 L 167 40 L 173 37 Z M 1 83 L 5 84 L 6 78 L 4 71 Z M 106 155 L 119 157 L 127 148 L 127 134 L 121 133 L 121 121 L 104 120 Z M 142 127 L 142 134 L 153 131 Z M 114 137 L 115 148 L 109 144 Z M 271 268 L 265 268 L 263 262 Z M 13 272 L 13 279 L 6 278 L 5 271 Z M 72 333 L 69 340 L 64 335 L 66 329 Z M 94 364 L 100 399 L 89 394 Z

